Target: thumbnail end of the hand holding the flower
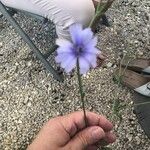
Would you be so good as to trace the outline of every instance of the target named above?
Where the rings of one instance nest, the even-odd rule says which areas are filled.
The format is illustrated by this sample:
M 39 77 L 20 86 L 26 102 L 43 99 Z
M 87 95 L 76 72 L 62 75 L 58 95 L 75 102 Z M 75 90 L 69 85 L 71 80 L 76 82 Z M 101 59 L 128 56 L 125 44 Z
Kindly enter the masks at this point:
M 95 127 L 92 131 L 92 137 L 94 138 L 94 140 L 100 140 L 101 138 L 104 137 L 104 131 L 103 129 L 99 128 L 99 127 Z

